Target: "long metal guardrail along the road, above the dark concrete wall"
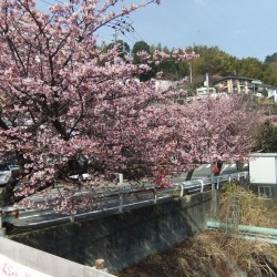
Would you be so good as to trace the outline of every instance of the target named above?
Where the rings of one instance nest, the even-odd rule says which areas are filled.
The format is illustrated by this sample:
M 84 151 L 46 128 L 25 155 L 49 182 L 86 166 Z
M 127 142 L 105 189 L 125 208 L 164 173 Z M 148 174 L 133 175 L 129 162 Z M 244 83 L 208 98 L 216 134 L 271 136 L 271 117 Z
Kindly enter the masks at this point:
M 91 212 L 80 211 L 75 215 L 65 215 L 49 209 L 20 209 L 17 207 L 0 208 L 0 230 L 3 223 L 9 223 L 18 227 L 45 226 L 66 222 L 81 220 L 100 214 L 123 213 L 135 207 L 157 204 L 176 197 L 184 197 L 187 194 L 203 193 L 220 188 L 232 181 L 246 179 L 248 172 L 233 173 L 222 176 L 213 176 L 206 179 L 192 179 L 175 183 L 170 187 L 155 187 L 154 184 L 143 184 L 141 186 L 120 186 L 117 189 L 104 189 L 91 192 L 94 199 L 94 209 Z M 84 192 L 76 193 L 74 197 L 80 197 Z M 88 192 L 86 192 L 88 193 Z M 34 197 L 34 202 L 42 201 Z M 1 232 L 0 232 L 1 234 Z

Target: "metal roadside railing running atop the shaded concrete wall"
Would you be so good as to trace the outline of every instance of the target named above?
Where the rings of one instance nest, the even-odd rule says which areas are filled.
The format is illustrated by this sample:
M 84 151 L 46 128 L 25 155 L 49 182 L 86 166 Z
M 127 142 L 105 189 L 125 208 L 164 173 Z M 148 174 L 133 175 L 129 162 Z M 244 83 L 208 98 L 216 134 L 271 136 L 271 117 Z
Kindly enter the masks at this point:
M 181 183 L 173 184 L 171 187 L 155 187 L 154 184 L 144 184 L 143 187 L 121 187 L 119 191 L 113 192 L 98 192 L 95 195 L 96 208 L 92 212 L 83 212 L 74 215 L 75 218 L 85 215 L 95 215 L 102 213 L 104 211 L 111 211 L 114 213 L 123 213 L 126 207 L 134 207 L 137 205 L 153 205 L 157 204 L 160 201 L 165 198 L 175 198 L 175 197 L 184 197 L 186 193 L 203 193 L 206 189 L 218 189 L 220 187 L 220 183 L 230 182 L 232 179 L 240 179 L 242 177 L 246 178 L 248 172 L 234 173 L 228 175 L 215 176 L 213 179 L 194 179 L 194 181 L 185 181 Z M 211 187 L 212 185 L 212 187 Z M 215 186 L 214 186 L 215 185 Z M 174 194 L 174 192 L 178 192 L 178 194 Z M 140 195 L 141 194 L 141 195 Z M 137 197 L 134 196 L 137 195 Z M 80 193 L 75 195 L 80 196 Z M 103 208 L 106 206 L 105 208 Z M 42 211 L 42 209 L 20 209 L 17 207 L 1 207 L 0 208 L 0 217 L 2 215 L 1 220 L 16 220 L 16 217 L 20 218 L 32 218 L 40 216 L 51 216 L 53 214 L 58 214 L 52 208 Z M 72 216 L 68 216 L 70 220 L 72 220 Z M 53 222 L 64 220 L 65 216 L 61 215 L 61 218 L 54 218 Z M 74 219 L 74 218 L 73 218 Z M 1 226 L 0 226 L 1 228 Z

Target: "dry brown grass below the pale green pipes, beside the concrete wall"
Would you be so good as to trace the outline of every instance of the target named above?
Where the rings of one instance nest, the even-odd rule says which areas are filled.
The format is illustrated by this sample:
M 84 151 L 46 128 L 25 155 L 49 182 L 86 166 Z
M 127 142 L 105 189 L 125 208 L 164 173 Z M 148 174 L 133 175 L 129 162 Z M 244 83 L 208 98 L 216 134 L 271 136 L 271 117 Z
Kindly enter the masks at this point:
M 205 232 L 178 246 L 151 255 L 119 277 L 277 276 L 275 246 L 227 239 L 219 232 Z

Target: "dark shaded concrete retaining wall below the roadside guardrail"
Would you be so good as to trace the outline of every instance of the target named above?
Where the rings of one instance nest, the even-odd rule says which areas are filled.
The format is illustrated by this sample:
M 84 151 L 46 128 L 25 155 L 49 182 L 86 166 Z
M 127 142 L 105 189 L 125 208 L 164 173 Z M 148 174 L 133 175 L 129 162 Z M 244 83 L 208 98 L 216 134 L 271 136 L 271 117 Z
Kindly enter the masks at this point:
M 217 197 L 216 191 L 187 195 L 123 214 L 10 238 L 88 266 L 103 258 L 109 270 L 116 273 L 202 232 L 206 220 L 217 214 Z

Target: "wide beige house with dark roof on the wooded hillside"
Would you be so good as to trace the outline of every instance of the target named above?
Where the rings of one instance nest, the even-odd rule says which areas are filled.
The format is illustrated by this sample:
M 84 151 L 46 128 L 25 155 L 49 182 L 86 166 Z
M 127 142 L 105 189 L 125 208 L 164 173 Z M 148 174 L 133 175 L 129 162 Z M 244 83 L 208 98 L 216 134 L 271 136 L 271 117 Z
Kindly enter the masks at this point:
M 259 80 L 237 75 L 220 78 L 214 81 L 213 84 L 217 93 L 225 92 L 249 94 L 253 92 L 256 93 L 263 88 L 263 83 Z

